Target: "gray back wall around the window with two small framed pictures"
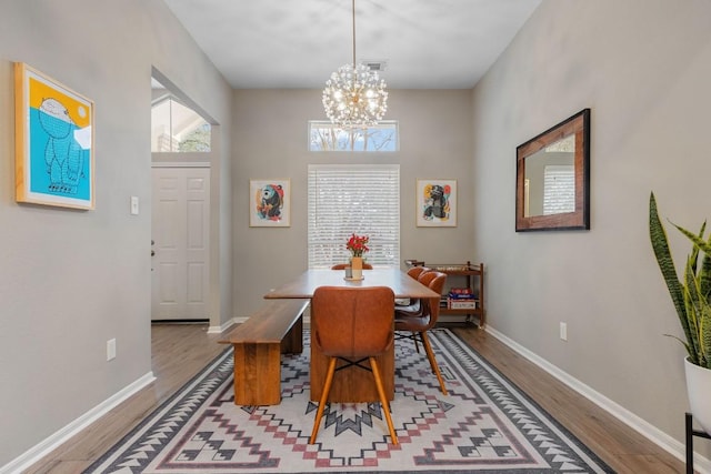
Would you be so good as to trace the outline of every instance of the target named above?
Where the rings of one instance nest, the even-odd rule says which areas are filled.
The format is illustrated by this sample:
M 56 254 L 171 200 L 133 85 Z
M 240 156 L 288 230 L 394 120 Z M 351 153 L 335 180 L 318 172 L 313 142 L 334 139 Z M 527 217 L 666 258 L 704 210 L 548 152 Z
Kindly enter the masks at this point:
M 320 90 L 234 93 L 234 314 L 246 316 L 270 289 L 307 269 L 307 169 L 310 163 L 399 163 L 402 259 L 475 259 L 470 219 L 471 91 L 391 91 L 388 120 L 400 122 L 398 153 L 316 153 L 308 121 L 324 120 Z M 249 226 L 249 180 L 291 179 L 291 226 Z M 458 180 L 457 228 L 415 226 L 415 180 Z

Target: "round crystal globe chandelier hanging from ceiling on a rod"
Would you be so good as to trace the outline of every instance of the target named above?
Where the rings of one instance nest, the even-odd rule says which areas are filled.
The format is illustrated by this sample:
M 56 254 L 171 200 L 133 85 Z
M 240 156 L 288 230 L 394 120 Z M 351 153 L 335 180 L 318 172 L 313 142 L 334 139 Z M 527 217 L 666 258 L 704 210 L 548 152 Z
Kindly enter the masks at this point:
M 326 81 L 323 109 L 341 129 L 364 128 L 382 120 L 388 110 L 385 81 L 365 64 L 356 63 L 356 0 L 353 10 L 353 63 L 338 68 Z

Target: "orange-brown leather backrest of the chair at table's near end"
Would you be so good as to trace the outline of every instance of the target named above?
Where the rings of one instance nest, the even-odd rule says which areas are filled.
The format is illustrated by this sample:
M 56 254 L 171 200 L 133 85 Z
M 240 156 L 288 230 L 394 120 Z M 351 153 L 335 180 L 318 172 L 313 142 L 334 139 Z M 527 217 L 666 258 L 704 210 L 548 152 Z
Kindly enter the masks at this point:
M 388 286 L 319 286 L 311 299 L 311 343 L 331 356 L 380 355 L 392 344 L 394 305 Z

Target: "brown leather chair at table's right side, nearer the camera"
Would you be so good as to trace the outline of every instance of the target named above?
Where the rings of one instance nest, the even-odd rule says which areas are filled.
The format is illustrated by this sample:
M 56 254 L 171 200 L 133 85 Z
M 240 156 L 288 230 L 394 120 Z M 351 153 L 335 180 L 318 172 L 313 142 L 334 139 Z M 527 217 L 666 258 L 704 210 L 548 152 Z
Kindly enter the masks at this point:
M 425 284 L 430 288 L 430 290 L 442 294 L 444 289 L 444 283 L 447 282 L 447 274 L 431 271 L 423 273 L 420 278 L 420 283 Z M 422 346 L 424 347 L 424 352 L 427 354 L 427 359 L 430 361 L 430 366 L 432 367 L 432 373 L 437 376 L 437 380 L 440 384 L 440 390 L 444 395 L 447 395 L 447 387 L 444 386 L 444 380 L 442 379 L 442 374 L 440 372 L 440 367 L 437 364 L 437 359 L 434 359 L 434 352 L 432 351 L 432 345 L 430 344 L 430 339 L 427 335 L 427 332 L 437 324 L 437 320 L 440 315 L 440 299 L 439 297 L 427 297 L 421 300 L 421 310 L 417 313 L 412 312 L 403 312 L 400 310 L 395 310 L 395 331 L 409 332 L 408 336 L 412 337 L 415 343 L 415 347 L 418 347 L 418 336 L 422 342 Z M 418 347 L 419 352 L 419 347 Z

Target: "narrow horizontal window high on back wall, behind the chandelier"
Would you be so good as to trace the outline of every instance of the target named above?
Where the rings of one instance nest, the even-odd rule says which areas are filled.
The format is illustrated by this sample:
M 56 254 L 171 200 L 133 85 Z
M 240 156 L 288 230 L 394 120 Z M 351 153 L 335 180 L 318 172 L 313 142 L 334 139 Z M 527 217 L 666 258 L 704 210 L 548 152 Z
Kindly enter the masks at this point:
M 381 121 L 368 129 L 343 130 L 331 122 L 309 121 L 311 151 L 398 151 L 398 122 Z

